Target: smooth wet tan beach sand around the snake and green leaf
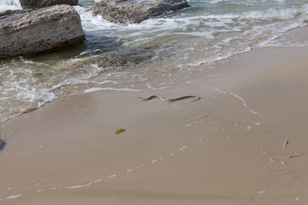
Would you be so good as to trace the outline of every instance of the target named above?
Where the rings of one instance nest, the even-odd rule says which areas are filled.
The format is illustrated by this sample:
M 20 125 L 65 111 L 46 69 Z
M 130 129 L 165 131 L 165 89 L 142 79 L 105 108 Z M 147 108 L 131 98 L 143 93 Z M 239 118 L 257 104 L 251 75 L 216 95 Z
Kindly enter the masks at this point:
M 62 96 L 0 124 L 0 205 L 308 203 L 308 47 L 258 48 L 158 82 L 171 78 L 183 80 Z M 153 94 L 202 98 L 137 99 Z

